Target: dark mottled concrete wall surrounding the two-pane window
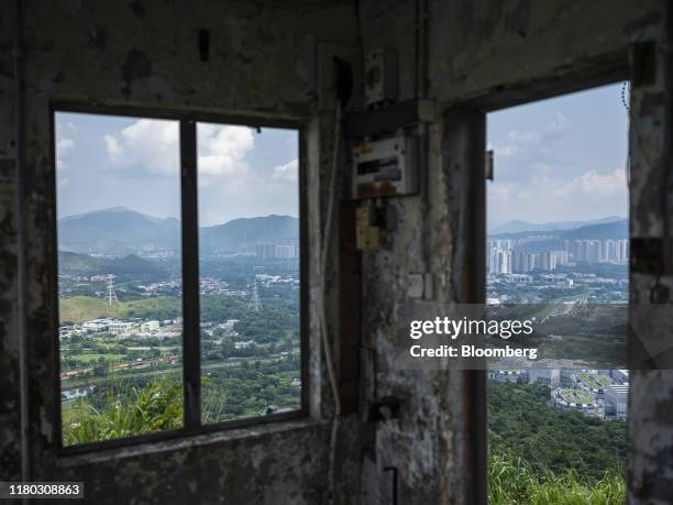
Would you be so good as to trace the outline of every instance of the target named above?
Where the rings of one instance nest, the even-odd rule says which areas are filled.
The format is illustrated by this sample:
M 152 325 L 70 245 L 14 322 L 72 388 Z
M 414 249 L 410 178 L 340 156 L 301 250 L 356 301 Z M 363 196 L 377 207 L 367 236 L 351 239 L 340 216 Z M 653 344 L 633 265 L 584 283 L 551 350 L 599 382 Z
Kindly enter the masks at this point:
M 19 24 L 23 92 L 21 149 L 25 185 L 23 221 L 16 213 L 19 178 L 12 3 L 0 15 L 0 468 L 3 480 L 86 482 L 89 503 L 320 503 L 327 490 L 330 394 L 324 387 L 319 333 L 311 325 L 311 416 L 229 430 L 213 436 L 153 442 L 99 453 L 58 455 L 54 411 L 56 333 L 55 243 L 51 107 L 60 101 L 95 106 L 208 111 L 298 120 L 307 127 L 309 234 L 320 234 L 320 188 L 329 166 L 331 114 L 318 112 L 318 41 L 350 42 L 350 4 L 323 2 L 22 1 Z M 211 34 L 201 62 L 198 31 Z M 316 198 L 313 197 L 316 196 Z M 25 237 L 18 250 L 19 229 Z M 317 284 L 315 249 L 309 279 Z M 25 261 L 23 322 L 27 451 L 21 451 L 19 394 L 18 259 Z M 316 314 L 312 294 L 311 315 Z M 313 316 L 315 317 L 315 316 Z M 333 325 L 336 328 L 335 325 Z M 345 427 L 347 428 L 347 422 Z M 355 461 L 356 463 L 356 461 Z

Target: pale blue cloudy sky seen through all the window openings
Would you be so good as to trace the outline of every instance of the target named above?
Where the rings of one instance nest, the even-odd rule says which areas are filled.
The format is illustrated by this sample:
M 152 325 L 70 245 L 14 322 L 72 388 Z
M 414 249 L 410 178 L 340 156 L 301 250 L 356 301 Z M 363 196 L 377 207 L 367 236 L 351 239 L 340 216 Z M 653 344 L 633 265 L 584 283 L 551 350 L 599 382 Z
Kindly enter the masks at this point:
M 621 85 L 489 113 L 488 227 L 626 216 Z M 128 207 L 179 217 L 177 121 L 56 113 L 58 216 Z M 199 224 L 298 215 L 298 134 L 198 124 Z

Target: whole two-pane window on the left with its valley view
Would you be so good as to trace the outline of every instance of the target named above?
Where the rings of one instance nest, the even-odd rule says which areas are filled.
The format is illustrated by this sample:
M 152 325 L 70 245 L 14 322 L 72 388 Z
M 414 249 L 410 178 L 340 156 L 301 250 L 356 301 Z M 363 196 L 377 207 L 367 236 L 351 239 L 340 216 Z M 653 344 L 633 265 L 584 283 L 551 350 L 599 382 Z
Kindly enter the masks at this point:
M 63 446 L 299 413 L 299 130 L 54 127 Z

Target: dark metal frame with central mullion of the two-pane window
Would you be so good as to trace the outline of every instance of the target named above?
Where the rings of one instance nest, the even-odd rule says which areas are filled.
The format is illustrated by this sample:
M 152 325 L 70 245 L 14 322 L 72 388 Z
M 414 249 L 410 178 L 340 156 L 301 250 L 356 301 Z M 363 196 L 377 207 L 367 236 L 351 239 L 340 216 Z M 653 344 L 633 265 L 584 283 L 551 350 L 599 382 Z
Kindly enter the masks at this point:
M 106 449 L 137 446 L 163 440 L 212 433 L 242 427 L 253 427 L 269 422 L 291 419 L 304 419 L 310 416 L 309 410 L 309 255 L 308 255 L 308 197 L 307 197 L 307 130 L 308 120 L 297 118 L 267 118 L 255 114 L 229 114 L 199 110 L 176 110 L 162 108 L 143 108 L 133 106 L 110 106 L 79 101 L 53 101 L 49 103 L 49 134 L 52 155 L 52 216 L 54 217 L 52 243 L 57 244 L 57 202 L 56 202 L 56 114 L 58 112 L 86 113 L 132 119 L 157 119 L 177 121 L 180 149 L 180 226 L 181 226 L 181 276 L 183 276 L 183 384 L 184 384 L 184 425 L 179 429 L 155 431 L 112 440 L 64 446 L 60 400 L 60 342 L 56 338 L 54 352 L 55 389 L 53 440 L 60 455 L 81 454 Z M 296 410 L 269 414 L 266 416 L 245 417 L 221 422 L 201 422 L 201 381 L 200 381 L 200 310 L 199 310 L 199 255 L 198 255 L 198 169 L 197 169 L 197 133 L 199 122 L 222 125 L 243 125 L 254 129 L 274 128 L 294 130 L 298 135 L 299 152 L 299 348 L 300 348 L 300 407 Z M 186 254 L 187 253 L 187 254 Z M 53 328 L 59 326 L 58 310 L 58 248 L 54 253 L 49 273 L 53 294 Z

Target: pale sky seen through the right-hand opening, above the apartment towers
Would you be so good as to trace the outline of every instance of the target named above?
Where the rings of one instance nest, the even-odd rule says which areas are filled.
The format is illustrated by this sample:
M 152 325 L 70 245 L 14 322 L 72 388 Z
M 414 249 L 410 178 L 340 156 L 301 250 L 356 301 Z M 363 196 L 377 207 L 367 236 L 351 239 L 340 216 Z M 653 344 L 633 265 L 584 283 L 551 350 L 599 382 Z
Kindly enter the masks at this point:
M 628 215 L 628 111 L 621 84 L 487 116 L 488 228 Z

